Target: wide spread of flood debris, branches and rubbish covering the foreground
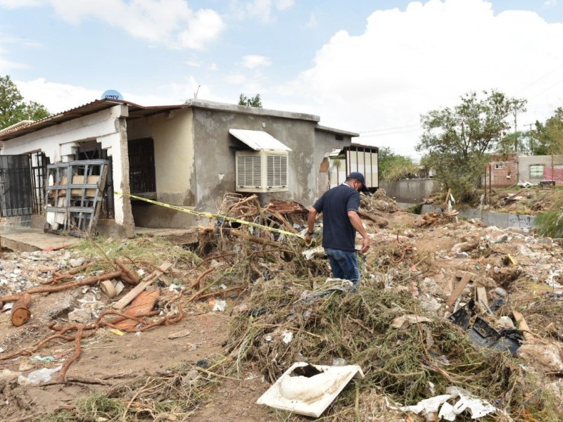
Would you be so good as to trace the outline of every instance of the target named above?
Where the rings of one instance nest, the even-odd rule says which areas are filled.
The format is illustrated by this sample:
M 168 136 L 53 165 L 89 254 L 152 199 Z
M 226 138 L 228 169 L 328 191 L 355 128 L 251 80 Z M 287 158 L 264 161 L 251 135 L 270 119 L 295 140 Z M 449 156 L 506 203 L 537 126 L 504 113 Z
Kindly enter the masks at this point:
M 80 381 L 72 366 L 81 364 L 84 350 L 120 334 L 151 331 L 162 332 L 160 343 L 179 342 L 190 358 L 139 351 L 166 366 L 125 381 L 96 378 L 103 395 L 97 389 L 70 409 L 56 409 L 58 415 L 203 418 L 203 404 L 213 400 L 205 394 L 225 384 L 248 409 L 262 411 L 254 420 L 265 420 L 267 410 L 254 402 L 290 368 L 303 373 L 288 377 L 311 379 L 300 387 L 284 385 L 291 394 L 301 388 L 299 396 L 315 404 L 321 395 L 303 385 L 329 382 L 329 373 L 339 373 L 334 368 L 353 367 L 347 386 L 334 384 L 340 392 L 329 399 L 334 402 L 323 402 L 328 407 L 322 410 L 313 406 L 312 414 L 321 411 L 334 421 L 559 420 L 562 248 L 528 230 L 483 228 L 451 215 L 417 224 L 419 217 L 398 211 L 383 191 L 361 201 L 372 247 L 359 260 L 357 294 L 348 293 L 348 281 L 330 278 L 320 246 L 305 245 L 305 207 L 274 200 L 262 207 L 255 196 L 225 196 L 219 207 L 224 219 L 201 227 L 197 248 L 141 237 L 6 255 L 0 324 L 13 335 L 0 338 L 0 367 L 34 356 L 53 361 L 0 378 L 0 399 L 17 417 L 29 415 L 30 408 L 13 399 L 18 388 L 29 387 L 18 385 L 18 376 L 29 380 L 42 369 L 38 365 L 45 366 L 53 371 L 49 377 L 70 388 L 69 381 Z M 20 326 L 8 315 L 14 308 L 30 311 L 18 312 L 16 321 L 28 317 Z M 196 330 L 197 316 L 206 324 L 220 321 L 224 331 Z M 182 326 L 188 318 L 191 323 Z M 169 326 L 177 327 L 172 332 Z M 216 348 L 191 343 L 194 333 L 208 335 Z M 358 371 L 365 376 L 350 381 Z M 254 379 L 255 397 L 236 396 L 241 380 Z M 91 410 L 102 407 L 108 410 Z M 235 419 L 229 409 L 222 416 Z M 301 420 L 287 413 L 297 407 L 281 409 L 280 418 Z

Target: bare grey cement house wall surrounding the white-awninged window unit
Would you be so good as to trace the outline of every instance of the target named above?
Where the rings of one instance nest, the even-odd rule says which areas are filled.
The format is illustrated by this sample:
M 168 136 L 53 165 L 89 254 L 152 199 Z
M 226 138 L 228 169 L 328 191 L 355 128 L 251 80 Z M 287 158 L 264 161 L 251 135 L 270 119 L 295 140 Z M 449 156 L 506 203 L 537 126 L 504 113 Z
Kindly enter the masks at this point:
M 319 194 L 317 177 L 324 153 L 346 145 L 346 141 L 336 141 L 334 134 L 315 132 L 317 116 L 241 106 L 210 109 L 192 104 L 192 108 L 195 171 L 191 191 L 196 193 L 198 210 L 216 211 L 224 194 L 236 191 L 235 150 L 247 147 L 229 129 L 265 131 L 292 150 L 288 155 L 289 190 L 260 193 L 262 203 L 277 198 L 312 205 Z

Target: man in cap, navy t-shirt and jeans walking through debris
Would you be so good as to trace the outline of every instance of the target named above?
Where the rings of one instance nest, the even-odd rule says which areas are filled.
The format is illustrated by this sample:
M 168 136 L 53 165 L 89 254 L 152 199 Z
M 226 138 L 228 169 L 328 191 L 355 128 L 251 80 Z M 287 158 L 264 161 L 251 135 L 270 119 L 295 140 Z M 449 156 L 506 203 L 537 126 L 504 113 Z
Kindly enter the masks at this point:
M 360 270 L 355 250 L 356 231 L 363 238 L 361 253 L 367 252 L 371 241 L 358 215 L 359 191 L 368 192 L 364 175 L 352 172 L 340 186 L 325 192 L 309 210 L 305 241 L 310 243 L 317 214 L 323 213 L 322 247 L 329 257 L 332 274 L 337 279 L 350 280 L 353 293 L 358 292 Z

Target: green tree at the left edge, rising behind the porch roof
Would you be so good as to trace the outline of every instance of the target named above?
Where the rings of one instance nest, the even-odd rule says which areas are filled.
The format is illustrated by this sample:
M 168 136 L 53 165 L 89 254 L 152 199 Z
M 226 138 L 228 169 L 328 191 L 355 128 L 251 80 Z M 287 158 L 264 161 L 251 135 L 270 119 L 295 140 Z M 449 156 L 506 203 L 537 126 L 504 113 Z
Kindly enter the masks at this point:
M 44 106 L 34 101 L 25 103 L 18 87 L 9 75 L 0 76 L 0 129 L 21 122 L 22 120 L 40 120 L 51 113 Z

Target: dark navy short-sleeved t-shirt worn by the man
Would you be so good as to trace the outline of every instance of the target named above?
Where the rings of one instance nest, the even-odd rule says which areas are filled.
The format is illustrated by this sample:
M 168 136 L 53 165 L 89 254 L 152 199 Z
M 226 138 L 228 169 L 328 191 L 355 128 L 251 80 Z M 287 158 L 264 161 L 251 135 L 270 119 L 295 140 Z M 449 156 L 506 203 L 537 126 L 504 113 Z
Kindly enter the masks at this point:
M 331 188 L 312 207 L 322 212 L 322 247 L 355 250 L 356 231 L 348 218 L 348 211 L 358 212 L 360 193 L 341 184 Z

